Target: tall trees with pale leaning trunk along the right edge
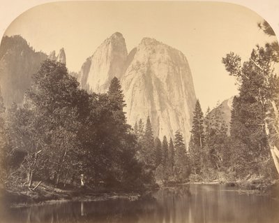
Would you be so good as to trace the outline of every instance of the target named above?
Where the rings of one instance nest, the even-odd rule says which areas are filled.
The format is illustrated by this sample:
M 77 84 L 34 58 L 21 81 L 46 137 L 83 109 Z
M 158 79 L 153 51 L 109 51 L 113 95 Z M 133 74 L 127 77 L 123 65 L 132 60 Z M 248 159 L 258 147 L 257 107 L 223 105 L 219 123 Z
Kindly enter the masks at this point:
M 267 22 L 259 24 L 273 36 Z M 277 45 L 277 47 L 276 47 Z M 231 134 L 236 151 L 236 174 L 262 175 L 262 164 L 270 160 L 269 148 L 278 142 L 278 84 L 274 64 L 278 62 L 278 43 L 266 43 L 252 50 L 247 62 L 230 52 L 223 58 L 229 75 L 239 83 L 239 96 L 234 99 Z M 272 118 L 271 118 L 272 117 Z

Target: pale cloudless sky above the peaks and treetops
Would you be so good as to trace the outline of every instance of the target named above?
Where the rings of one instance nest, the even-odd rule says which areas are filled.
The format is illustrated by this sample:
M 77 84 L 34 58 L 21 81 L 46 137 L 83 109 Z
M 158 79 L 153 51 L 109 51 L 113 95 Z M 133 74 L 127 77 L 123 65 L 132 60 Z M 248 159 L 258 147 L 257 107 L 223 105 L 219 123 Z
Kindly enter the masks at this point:
M 80 71 L 105 38 L 119 31 L 128 52 L 142 38 L 156 38 L 186 55 L 195 93 L 205 112 L 237 94 L 222 57 L 230 51 L 244 59 L 257 43 L 274 38 L 257 27 L 262 17 L 232 3 L 163 1 L 79 1 L 46 3 L 27 10 L 6 30 L 20 34 L 37 51 L 66 51 L 69 71 Z

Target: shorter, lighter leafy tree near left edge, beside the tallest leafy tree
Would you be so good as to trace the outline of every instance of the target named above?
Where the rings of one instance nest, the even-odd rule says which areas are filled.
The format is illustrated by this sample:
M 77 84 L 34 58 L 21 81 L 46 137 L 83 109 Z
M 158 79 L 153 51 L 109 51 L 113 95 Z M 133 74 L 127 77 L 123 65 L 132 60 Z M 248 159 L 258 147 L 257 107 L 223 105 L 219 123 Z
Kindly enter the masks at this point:
M 17 108 L 15 104 L 8 109 L 7 134 L 9 152 L 6 156 L 10 168 L 18 168 L 17 176 L 27 176 L 27 184 L 32 186 L 34 175 L 43 175 L 47 170 L 47 145 L 43 144 L 38 123 L 33 118 L 31 110 Z M 43 146 L 45 145 L 45 146 Z M 26 154 L 20 166 L 17 166 L 17 151 Z M 15 182 L 14 175 L 9 176 L 10 182 Z

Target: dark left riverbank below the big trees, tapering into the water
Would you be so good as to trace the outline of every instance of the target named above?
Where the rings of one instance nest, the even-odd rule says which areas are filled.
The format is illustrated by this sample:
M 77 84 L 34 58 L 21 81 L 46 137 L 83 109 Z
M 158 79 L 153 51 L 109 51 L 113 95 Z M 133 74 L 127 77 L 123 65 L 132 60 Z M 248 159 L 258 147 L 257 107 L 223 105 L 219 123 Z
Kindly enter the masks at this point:
M 51 184 L 42 183 L 35 191 L 27 186 L 14 186 L 13 189 L 1 189 L 0 199 L 12 207 L 38 206 L 45 203 L 63 201 L 106 201 L 111 199 L 128 199 L 135 201 L 143 194 L 158 188 L 149 185 L 145 188 L 122 189 L 122 188 L 57 188 Z

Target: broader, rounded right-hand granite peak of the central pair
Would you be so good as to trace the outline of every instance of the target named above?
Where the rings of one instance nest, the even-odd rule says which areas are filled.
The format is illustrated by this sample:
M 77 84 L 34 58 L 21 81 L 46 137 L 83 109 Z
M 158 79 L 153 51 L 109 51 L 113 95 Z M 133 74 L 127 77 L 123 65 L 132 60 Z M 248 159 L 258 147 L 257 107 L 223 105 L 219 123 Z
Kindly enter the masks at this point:
M 188 141 L 196 96 L 186 57 L 155 39 L 144 38 L 128 58 L 121 78 L 128 123 L 149 116 L 155 136 L 174 138 L 175 131 L 181 130 Z

